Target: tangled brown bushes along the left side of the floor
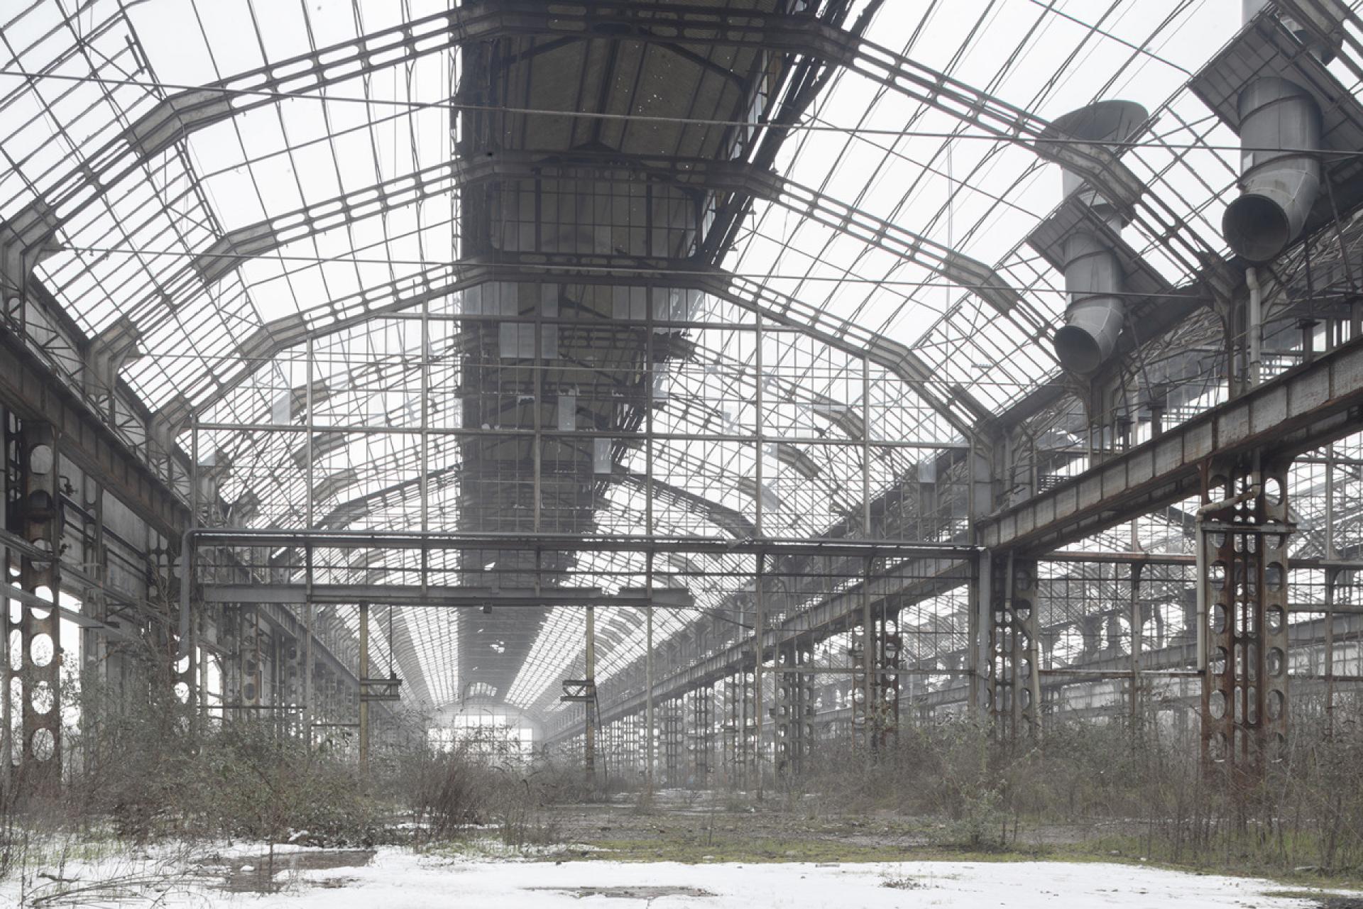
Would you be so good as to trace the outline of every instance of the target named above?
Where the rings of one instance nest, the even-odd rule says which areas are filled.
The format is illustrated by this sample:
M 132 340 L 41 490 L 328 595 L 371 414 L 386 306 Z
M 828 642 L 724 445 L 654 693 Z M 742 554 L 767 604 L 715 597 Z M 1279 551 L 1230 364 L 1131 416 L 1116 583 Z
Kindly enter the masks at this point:
M 0 879 L 153 844 L 222 838 L 326 846 L 496 837 L 552 842 L 544 807 L 583 797 L 582 774 L 525 760 L 495 737 L 453 750 L 386 741 L 361 773 L 354 743 L 312 747 L 267 711 L 206 717 L 169 687 L 123 696 L 86 685 L 64 714 L 63 777 L 25 762 L 0 786 Z M 57 872 L 59 874 L 59 872 Z M 60 874 L 59 874 L 60 876 Z

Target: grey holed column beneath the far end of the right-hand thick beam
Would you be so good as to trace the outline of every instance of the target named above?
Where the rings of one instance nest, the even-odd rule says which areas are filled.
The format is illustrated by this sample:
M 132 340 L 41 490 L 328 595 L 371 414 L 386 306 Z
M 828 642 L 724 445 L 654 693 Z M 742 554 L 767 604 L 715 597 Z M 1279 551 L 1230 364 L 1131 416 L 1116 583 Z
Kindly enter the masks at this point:
M 1040 729 L 1036 601 L 1037 566 L 1030 559 L 996 556 L 990 586 L 990 709 L 1003 739 Z

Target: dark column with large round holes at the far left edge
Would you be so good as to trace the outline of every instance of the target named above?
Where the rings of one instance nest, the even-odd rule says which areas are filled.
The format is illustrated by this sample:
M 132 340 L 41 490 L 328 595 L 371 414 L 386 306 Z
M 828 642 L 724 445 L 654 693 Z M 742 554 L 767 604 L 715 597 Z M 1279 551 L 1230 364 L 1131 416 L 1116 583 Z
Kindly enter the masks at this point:
M 30 598 L 18 604 L 18 621 L 12 606 L 5 616 L 5 636 L 12 639 L 18 632 L 20 647 L 19 665 L 10 666 L 7 690 L 11 709 L 19 711 L 19 737 L 11 743 L 11 759 L 18 759 L 20 785 L 38 789 L 61 781 L 61 617 L 56 606 L 61 590 L 63 489 L 52 427 L 11 422 L 7 435 L 7 462 L 18 493 L 7 504 L 14 508 L 18 536 L 33 546 L 19 557 L 19 586 Z

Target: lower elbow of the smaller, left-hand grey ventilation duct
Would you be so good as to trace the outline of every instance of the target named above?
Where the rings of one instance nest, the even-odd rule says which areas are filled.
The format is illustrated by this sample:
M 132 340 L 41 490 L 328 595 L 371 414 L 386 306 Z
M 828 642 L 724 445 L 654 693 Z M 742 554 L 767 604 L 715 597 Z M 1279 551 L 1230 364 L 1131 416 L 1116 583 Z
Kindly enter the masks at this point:
M 1089 373 L 1112 356 L 1126 319 L 1116 253 L 1092 233 L 1071 234 L 1065 241 L 1065 289 L 1070 305 L 1055 333 L 1055 356 L 1066 369 Z

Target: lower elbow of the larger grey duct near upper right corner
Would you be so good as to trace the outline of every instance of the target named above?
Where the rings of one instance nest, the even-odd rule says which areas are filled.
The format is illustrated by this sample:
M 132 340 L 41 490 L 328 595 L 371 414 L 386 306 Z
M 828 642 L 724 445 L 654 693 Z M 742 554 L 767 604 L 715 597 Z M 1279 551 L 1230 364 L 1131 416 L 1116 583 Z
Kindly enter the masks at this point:
M 1272 262 L 1302 234 L 1321 192 L 1321 109 L 1306 89 L 1278 78 L 1250 83 L 1239 98 L 1240 196 L 1221 233 L 1250 262 Z

